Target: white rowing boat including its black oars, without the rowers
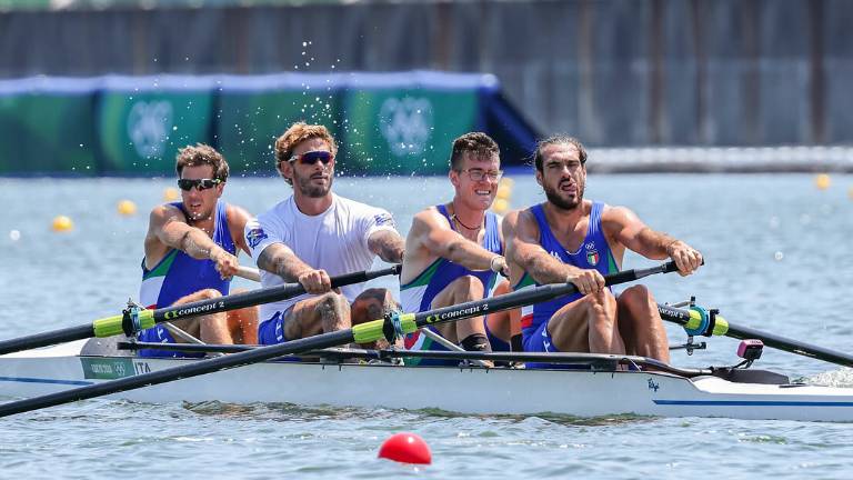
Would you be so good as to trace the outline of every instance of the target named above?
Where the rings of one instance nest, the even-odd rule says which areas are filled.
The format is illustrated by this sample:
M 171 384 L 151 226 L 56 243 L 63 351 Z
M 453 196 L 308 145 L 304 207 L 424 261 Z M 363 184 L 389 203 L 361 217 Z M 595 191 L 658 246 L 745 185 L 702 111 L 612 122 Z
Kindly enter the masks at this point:
M 364 281 L 394 269 L 355 272 L 333 284 Z M 675 270 L 672 262 L 609 274 L 605 284 L 634 281 Z M 853 356 L 730 323 L 716 309 L 693 299 L 659 306 L 661 318 L 684 327 L 689 351 L 703 348 L 694 336 L 744 340 L 743 361 L 733 367 L 680 369 L 642 357 L 591 353 L 483 353 L 340 350 L 340 346 L 392 340 L 419 328 L 453 322 L 548 301 L 576 292 L 571 284 L 539 286 L 415 313 L 383 319 L 274 346 L 165 346 L 134 342 L 134 349 L 202 349 L 204 359 L 140 358 L 117 339 L 142 328 L 199 311 L 227 311 L 273 298 L 299 294 L 299 284 L 237 293 L 157 310 L 129 306 L 121 316 L 89 324 L 0 342 L 0 396 L 24 397 L 0 403 L 0 417 L 20 414 L 97 397 L 144 402 L 284 402 L 300 406 L 442 409 L 473 414 L 568 414 L 599 417 L 727 417 L 853 421 L 853 389 L 792 383 L 782 374 L 751 369 L 762 342 L 791 353 L 853 367 Z M 688 306 L 689 309 L 680 309 Z M 126 337 L 127 338 L 127 337 Z M 53 347 L 49 347 L 53 346 Z M 293 356 L 300 356 L 294 358 Z M 322 361 L 307 358 L 320 356 Z M 432 356 L 460 367 L 405 367 L 353 362 Z M 298 360 L 298 361 L 294 361 Z M 555 363 L 551 369 L 485 368 L 483 360 Z M 566 367 L 569 364 L 569 368 Z M 483 363 L 480 363 L 483 364 Z M 238 370 L 239 368 L 239 370 Z

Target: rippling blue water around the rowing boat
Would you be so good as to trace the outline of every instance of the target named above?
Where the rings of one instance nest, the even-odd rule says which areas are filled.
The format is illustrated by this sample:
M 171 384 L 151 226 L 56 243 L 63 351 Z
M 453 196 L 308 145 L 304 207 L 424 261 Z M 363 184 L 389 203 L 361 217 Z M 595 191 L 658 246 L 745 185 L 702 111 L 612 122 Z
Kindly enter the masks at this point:
M 147 212 L 169 184 L 0 179 L 0 338 L 78 326 L 137 297 Z M 629 206 L 705 254 L 693 277 L 649 281 L 660 301 L 695 294 L 734 323 L 850 351 L 850 188 L 853 178 L 844 176 L 826 191 L 810 176 L 592 176 L 586 197 Z M 387 207 L 403 232 L 415 211 L 451 194 L 444 179 L 338 179 L 335 189 Z M 512 204 L 541 201 L 539 191 L 531 178 L 516 177 Z M 237 178 L 225 198 L 260 212 L 288 192 L 277 179 Z M 118 216 L 121 199 L 140 212 Z M 58 214 L 69 216 L 74 230 L 52 233 Z M 625 267 L 644 264 L 630 257 Z M 683 340 L 679 329 L 669 332 L 673 343 Z M 731 363 L 736 344 L 712 339 L 708 351 L 675 352 L 673 362 Z M 765 350 L 759 364 L 853 386 L 851 370 L 790 353 Z M 850 424 L 786 421 L 90 400 L 0 422 L 0 477 L 9 478 L 844 478 L 853 457 Z M 433 464 L 377 460 L 381 441 L 399 431 L 422 436 Z

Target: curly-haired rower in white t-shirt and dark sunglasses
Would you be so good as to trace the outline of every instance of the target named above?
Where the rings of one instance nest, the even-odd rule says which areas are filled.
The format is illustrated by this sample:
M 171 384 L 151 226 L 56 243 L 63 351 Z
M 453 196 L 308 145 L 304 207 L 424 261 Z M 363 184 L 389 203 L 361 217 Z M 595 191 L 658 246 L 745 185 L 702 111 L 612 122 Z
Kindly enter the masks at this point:
M 275 141 L 275 167 L 293 194 L 252 219 L 245 238 L 264 288 L 297 281 L 308 294 L 261 306 L 262 344 L 349 329 L 397 306 L 387 289 L 331 289 L 330 277 L 403 257 L 388 211 L 332 193 L 337 152 L 323 126 L 298 122 Z

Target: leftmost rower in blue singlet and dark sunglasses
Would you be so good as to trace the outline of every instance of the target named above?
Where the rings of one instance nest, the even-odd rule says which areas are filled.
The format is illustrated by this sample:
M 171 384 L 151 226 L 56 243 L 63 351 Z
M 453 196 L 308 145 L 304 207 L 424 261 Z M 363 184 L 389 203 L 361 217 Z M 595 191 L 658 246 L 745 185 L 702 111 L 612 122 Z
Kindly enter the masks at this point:
M 140 303 L 145 308 L 209 300 L 229 293 L 239 267 L 237 249 L 249 252 L 243 228 L 249 213 L 220 201 L 228 162 L 205 144 L 178 151 L 175 172 L 181 201 L 151 210 L 142 260 Z M 205 314 L 174 321 L 205 343 L 257 343 L 258 309 Z M 162 323 L 140 332 L 140 340 L 183 343 Z M 195 357 L 164 350 L 141 350 L 144 357 Z

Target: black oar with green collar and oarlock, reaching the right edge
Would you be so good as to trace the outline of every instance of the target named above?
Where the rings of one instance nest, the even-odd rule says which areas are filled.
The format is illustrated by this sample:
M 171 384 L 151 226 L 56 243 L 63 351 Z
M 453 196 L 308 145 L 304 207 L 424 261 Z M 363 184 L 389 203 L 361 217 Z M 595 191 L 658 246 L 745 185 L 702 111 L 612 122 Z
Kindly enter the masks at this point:
M 678 323 L 688 330 L 698 331 L 700 334 L 706 337 L 725 336 L 740 340 L 756 339 L 764 342 L 767 347 L 790 353 L 796 353 L 844 367 L 853 367 L 853 356 L 773 333 L 766 333 L 749 327 L 739 327 L 729 322 L 721 316 L 710 314 L 704 309 L 683 310 L 659 304 L 658 311 L 661 312 L 661 318 L 663 320 Z

